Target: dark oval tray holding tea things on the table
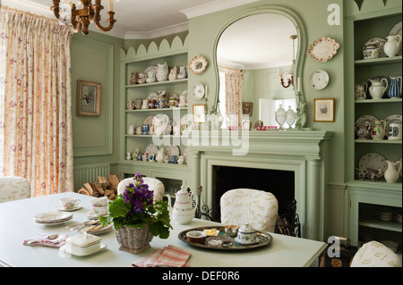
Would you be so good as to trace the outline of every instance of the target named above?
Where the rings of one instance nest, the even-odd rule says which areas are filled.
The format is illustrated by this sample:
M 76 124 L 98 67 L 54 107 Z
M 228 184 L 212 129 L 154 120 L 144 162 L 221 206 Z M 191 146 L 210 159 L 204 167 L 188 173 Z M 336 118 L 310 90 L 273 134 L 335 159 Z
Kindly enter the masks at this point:
M 219 235 L 217 236 L 218 239 L 231 239 L 231 245 L 229 246 L 220 246 L 220 247 L 210 247 L 208 245 L 207 241 L 202 245 L 199 243 L 195 242 L 189 242 L 186 237 L 186 232 L 188 231 L 204 231 L 204 230 L 210 230 L 210 229 L 216 229 L 219 231 Z M 270 236 L 269 233 L 263 232 L 263 231 L 256 231 L 256 237 L 259 239 L 259 242 L 254 243 L 254 244 L 241 244 L 236 242 L 235 238 L 231 238 L 227 236 L 227 233 L 225 232 L 225 227 L 199 227 L 199 228 L 193 228 L 189 229 L 186 231 L 181 231 L 178 236 L 179 239 L 184 241 L 190 246 L 193 247 L 201 247 L 201 248 L 208 248 L 208 249 L 217 249 L 217 250 L 245 250 L 245 249 L 251 249 L 251 248 L 256 248 L 256 247 L 266 247 L 267 245 L 270 244 L 270 242 L 273 240 L 273 237 Z M 207 239 L 209 239 L 210 236 L 208 236 Z

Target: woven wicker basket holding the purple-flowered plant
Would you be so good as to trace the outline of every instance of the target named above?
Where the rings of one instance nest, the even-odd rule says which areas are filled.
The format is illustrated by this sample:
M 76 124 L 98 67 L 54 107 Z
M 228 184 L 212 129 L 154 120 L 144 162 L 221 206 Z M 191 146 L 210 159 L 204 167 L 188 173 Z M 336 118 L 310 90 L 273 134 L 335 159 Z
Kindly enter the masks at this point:
M 116 239 L 120 245 L 119 249 L 133 254 L 138 254 L 149 248 L 152 238 L 148 224 L 142 229 L 123 226 L 116 230 Z

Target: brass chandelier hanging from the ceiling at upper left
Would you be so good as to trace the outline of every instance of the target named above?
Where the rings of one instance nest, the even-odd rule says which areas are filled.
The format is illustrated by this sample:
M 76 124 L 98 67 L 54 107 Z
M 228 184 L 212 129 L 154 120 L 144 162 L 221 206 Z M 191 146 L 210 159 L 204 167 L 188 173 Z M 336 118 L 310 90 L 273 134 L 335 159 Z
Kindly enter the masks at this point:
M 104 9 L 101 4 L 101 0 L 95 0 L 95 4 L 92 4 L 92 0 L 78 0 L 82 9 L 76 9 L 76 5 L 72 1 L 63 1 L 59 6 L 60 0 L 53 0 L 53 6 L 50 8 L 55 13 L 57 20 L 64 23 L 71 23 L 74 32 L 78 33 L 82 29 L 84 35 L 88 35 L 88 26 L 91 23 L 95 23 L 98 29 L 102 31 L 111 30 L 114 27 L 116 20 L 114 19 L 115 12 L 113 7 L 113 0 L 109 0 L 109 12 L 107 13 L 109 19 L 107 27 L 103 27 L 99 21 L 101 20 L 100 12 Z M 77 2 L 77 1 L 75 1 Z M 69 22 L 70 21 L 70 22 Z

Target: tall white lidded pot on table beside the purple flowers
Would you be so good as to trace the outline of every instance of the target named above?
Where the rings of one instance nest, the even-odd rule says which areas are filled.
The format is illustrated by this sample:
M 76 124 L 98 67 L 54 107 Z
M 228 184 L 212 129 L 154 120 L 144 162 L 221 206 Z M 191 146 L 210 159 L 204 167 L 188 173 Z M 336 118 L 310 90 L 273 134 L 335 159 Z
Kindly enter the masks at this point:
M 170 200 L 168 198 L 168 200 Z M 193 194 L 191 189 L 184 190 L 182 186 L 176 192 L 175 204 L 172 209 L 172 219 L 178 224 L 187 224 L 192 222 L 196 206 L 192 203 Z M 169 201 L 170 202 L 170 201 Z

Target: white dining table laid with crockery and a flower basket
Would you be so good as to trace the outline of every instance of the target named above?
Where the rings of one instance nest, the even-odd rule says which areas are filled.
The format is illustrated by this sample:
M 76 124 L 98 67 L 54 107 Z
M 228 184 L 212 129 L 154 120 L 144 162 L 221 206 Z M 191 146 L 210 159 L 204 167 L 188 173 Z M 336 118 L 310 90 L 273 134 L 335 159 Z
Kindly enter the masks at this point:
M 62 224 L 47 226 L 34 221 L 38 214 L 58 211 L 56 207 L 62 197 L 81 199 L 81 209 L 70 212 L 73 219 Z M 193 219 L 190 224 L 180 225 L 171 222 L 173 230 L 168 239 L 153 238 L 150 248 L 140 254 L 119 250 L 115 230 L 100 234 L 101 242 L 107 247 L 90 256 L 65 255 L 55 247 L 24 246 L 25 239 L 42 233 L 67 234 L 76 231 L 66 226 L 88 221 L 91 211 L 90 201 L 94 197 L 78 193 L 62 193 L 46 197 L 33 197 L 0 204 L 0 266 L 16 267 L 130 267 L 133 262 L 150 254 L 157 248 L 168 245 L 181 247 L 191 253 L 191 267 L 303 267 L 310 266 L 320 256 L 326 244 L 322 241 L 301 239 L 270 233 L 272 241 L 265 247 L 248 250 L 214 250 L 193 247 L 178 239 L 178 234 L 191 228 L 219 226 L 220 223 Z

